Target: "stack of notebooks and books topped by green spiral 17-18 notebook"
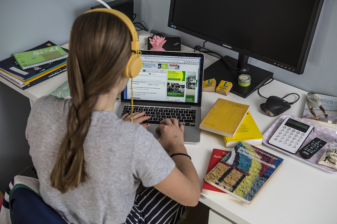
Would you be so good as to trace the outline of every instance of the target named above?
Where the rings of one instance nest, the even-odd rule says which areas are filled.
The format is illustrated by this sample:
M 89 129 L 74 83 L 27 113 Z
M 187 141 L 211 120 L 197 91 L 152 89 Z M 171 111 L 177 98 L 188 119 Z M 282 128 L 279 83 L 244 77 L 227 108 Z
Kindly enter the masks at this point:
M 67 70 L 68 49 L 51 41 L 0 61 L 0 75 L 26 89 Z

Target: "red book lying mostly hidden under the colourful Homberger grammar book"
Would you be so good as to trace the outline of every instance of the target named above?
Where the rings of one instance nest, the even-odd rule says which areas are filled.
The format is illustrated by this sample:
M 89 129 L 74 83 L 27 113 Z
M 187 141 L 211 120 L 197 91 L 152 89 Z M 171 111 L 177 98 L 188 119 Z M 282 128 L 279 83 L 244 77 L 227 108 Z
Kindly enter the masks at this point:
M 221 159 L 228 152 L 229 151 L 227 151 L 227 150 L 213 149 L 211 160 L 210 160 L 210 163 L 208 165 L 206 174 L 208 174 L 214 168 L 214 166 L 216 164 L 218 164 L 221 161 Z M 226 192 L 224 192 L 224 191 L 222 191 L 222 190 L 220 190 L 216 187 L 213 187 L 212 185 L 210 185 L 209 183 L 206 183 L 206 182 L 204 182 L 203 189 L 202 189 L 201 193 L 214 195 L 214 196 L 218 196 L 218 197 L 230 198 L 230 199 L 234 199 L 234 200 L 239 200 L 239 199 L 233 197 L 232 195 L 229 195 Z

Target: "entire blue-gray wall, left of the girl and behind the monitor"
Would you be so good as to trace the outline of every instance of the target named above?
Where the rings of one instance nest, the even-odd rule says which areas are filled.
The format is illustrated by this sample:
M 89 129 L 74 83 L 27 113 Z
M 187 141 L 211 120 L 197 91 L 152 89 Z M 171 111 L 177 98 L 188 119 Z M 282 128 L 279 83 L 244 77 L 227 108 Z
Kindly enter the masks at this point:
M 145 23 L 155 33 L 180 36 L 182 44 L 189 47 L 202 44 L 201 39 L 167 27 L 170 0 L 134 1 L 135 22 Z M 1 0 L 0 60 L 47 40 L 59 45 L 68 42 L 75 17 L 95 5 L 98 3 L 94 0 Z M 237 57 L 236 52 L 211 43 L 206 43 L 206 47 L 223 55 Z M 250 59 L 249 63 L 273 72 L 276 80 L 306 91 L 337 96 L 336 61 L 337 2 L 325 0 L 304 74 L 296 75 L 255 59 Z M 0 83 L 1 192 L 14 175 L 31 164 L 24 137 L 29 112 L 28 99 Z

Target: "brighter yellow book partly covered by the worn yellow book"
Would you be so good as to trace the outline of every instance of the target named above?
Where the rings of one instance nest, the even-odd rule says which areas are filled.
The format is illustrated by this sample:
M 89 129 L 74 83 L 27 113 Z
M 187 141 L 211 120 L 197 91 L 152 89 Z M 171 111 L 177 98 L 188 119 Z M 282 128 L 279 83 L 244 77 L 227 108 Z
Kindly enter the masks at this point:
M 240 141 L 245 141 L 255 146 L 262 145 L 263 140 L 263 136 L 249 111 L 234 137 L 222 136 L 222 138 L 227 148 L 235 147 Z

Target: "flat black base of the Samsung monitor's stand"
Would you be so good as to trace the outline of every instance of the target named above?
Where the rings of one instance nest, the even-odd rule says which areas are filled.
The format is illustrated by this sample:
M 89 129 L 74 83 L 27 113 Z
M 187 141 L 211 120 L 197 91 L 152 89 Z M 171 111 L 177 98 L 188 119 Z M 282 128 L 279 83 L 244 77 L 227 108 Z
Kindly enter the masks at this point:
M 231 65 L 237 65 L 238 60 L 229 56 L 224 57 Z M 230 92 L 246 98 L 252 94 L 256 89 L 261 87 L 269 78 L 273 77 L 272 72 L 258 68 L 256 66 L 248 64 L 250 71 L 245 73 L 250 75 L 251 82 L 249 86 L 243 87 L 238 84 L 238 76 L 242 73 L 229 68 L 221 59 L 214 62 L 204 70 L 204 81 L 215 78 L 218 85 L 221 80 L 232 82 L 233 87 Z

